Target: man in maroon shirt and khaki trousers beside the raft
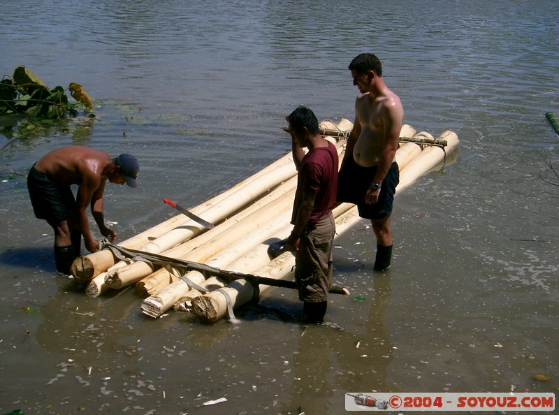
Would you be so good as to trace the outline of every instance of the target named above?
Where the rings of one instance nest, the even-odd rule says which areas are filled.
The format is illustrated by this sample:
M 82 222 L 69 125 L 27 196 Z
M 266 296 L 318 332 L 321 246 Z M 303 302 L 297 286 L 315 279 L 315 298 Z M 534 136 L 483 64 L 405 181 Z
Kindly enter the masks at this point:
M 298 107 L 286 117 L 298 171 L 293 203 L 293 231 L 286 247 L 295 252 L 295 279 L 303 314 L 309 323 L 321 323 L 332 286 L 332 247 L 335 222 L 337 150 L 321 136 L 312 110 Z M 305 154 L 303 148 L 307 147 Z

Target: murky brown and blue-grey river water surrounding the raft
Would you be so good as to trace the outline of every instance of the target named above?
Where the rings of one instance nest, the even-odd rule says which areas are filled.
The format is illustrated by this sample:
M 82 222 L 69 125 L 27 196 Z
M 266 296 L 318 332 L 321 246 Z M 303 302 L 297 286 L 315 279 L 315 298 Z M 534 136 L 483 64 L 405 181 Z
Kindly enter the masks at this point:
M 407 124 L 460 145 L 397 195 L 389 272 L 372 272 L 366 221 L 337 239 L 351 296 L 312 327 L 284 319 L 300 303 L 281 289 L 212 326 L 148 319 L 133 290 L 85 296 L 57 275 L 24 177 L 0 170 L 2 413 L 340 414 L 351 391 L 558 393 L 555 2 L 4 6 L 3 73 L 79 82 L 96 118 L 0 135 L 0 167 L 26 174 L 76 143 L 135 154 L 140 187 L 106 191 L 123 239 L 175 214 L 164 197 L 193 207 L 289 151 L 297 105 L 352 119 L 361 52 L 382 59 Z

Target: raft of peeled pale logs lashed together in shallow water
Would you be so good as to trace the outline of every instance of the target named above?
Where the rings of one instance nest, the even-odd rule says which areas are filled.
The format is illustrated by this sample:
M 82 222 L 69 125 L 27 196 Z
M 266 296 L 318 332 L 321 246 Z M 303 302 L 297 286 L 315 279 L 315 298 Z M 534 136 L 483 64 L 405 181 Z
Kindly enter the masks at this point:
M 340 163 L 352 123 L 324 120 L 321 133 L 337 147 Z M 421 175 L 440 168 L 458 147 L 458 136 L 444 131 L 434 138 L 404 125 L 396 161 L 400 168 L 397 194 Z M 208 229 L 184 214 L 139 233 L 118 245 L 78 257 L 71 273 L 87 282 L 85 292 L 98 297 L 134 285 L 144 298 L 146 316 L 168 310 L 189 313 L 213 323 L 259 299 L 273 286 L 295 288 L 295 258 L 284 252 L 270 258 L 272 242 L 287 238 L 297 184 L 291 152 L 222 194 L 191 209 L 215 225 Z M 342 203 L 333 211 L 336 238 L 358 221 L 355 205 Z M 342 287 L 331 292 L 349 293 Z

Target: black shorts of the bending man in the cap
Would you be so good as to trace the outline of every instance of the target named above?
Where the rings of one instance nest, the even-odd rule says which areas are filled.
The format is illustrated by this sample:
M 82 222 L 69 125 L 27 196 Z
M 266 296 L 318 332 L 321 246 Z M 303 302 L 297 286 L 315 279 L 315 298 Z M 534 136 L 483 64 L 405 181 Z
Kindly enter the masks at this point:
M 35 170 L 27 175 L 27 190 L 35 217 L 47 221 L 61 222 L 68 220 L 68 211 L 75 207 L 75 198 L 69 186 L 57 184 L 47 175 Z

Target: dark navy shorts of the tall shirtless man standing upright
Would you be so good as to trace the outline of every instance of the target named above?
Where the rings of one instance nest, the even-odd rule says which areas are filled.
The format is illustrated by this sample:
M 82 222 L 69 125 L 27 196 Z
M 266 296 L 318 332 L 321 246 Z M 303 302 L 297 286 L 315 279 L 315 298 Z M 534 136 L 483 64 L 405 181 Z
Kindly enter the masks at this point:
M 369 205 L 365 203 L 365 194 L 376 173 L 377 166 L 361 167 L 353 157 L 349 157 L 337 178 L 337 201 L 354 203 L 357 205 L 359 216 L 365 219 L 382 219 L 390 216 L 396 186 L 400 182 L 398 163 L 393 162 L 389 172 L 386 173 L 380 188 L 379 201 Z

